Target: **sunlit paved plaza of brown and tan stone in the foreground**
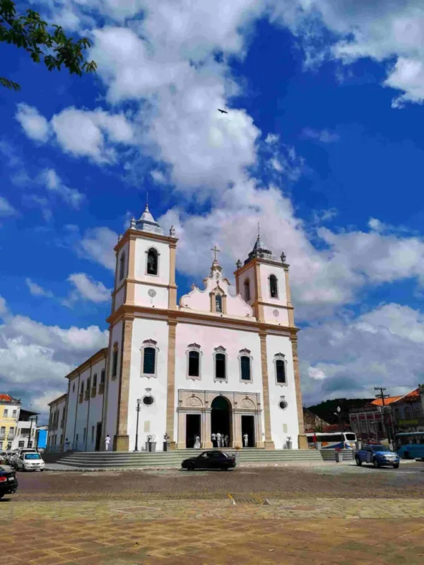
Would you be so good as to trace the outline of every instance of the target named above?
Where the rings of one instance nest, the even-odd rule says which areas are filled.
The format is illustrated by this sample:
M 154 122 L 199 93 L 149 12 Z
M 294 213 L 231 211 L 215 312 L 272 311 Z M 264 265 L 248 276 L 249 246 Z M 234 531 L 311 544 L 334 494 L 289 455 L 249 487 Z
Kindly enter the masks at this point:
M 18 477 L 0 502 L 8 564 L 424 561 L 424 463 Z

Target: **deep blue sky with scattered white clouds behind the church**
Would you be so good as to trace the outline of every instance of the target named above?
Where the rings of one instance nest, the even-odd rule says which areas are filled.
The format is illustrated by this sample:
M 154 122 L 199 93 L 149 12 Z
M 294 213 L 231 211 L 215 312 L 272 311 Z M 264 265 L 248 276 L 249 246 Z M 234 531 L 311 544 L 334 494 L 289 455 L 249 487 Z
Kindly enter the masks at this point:
M 105 344 L 112 247 L 147 191 L 179 295 L 215 243 L 231 275 L 258 221 L 285 251 L 305 403 L 423 380 L 420 2 L 33 6 L 90 37 L 98 73 L 0 47 L 22 86 L 0 99 L 2 390 L 44 411 Z

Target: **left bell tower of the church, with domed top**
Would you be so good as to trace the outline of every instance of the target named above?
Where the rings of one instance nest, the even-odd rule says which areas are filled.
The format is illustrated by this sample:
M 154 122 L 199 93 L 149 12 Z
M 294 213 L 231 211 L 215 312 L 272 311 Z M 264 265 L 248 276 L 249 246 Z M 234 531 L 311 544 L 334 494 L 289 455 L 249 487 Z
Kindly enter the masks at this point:
M 151 215 L 148 205 L 119 238 L 112 314 L 122 304 L 160 309 L 177 308 L 174 227 L 169 236 Z

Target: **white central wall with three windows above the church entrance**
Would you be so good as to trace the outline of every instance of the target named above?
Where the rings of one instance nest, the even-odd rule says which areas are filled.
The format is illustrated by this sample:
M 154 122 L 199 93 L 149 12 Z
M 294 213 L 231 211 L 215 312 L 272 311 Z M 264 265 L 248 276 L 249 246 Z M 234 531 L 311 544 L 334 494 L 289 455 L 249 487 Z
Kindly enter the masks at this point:
M 201 346 L 201 379 L 187 378 L 187 346 L 197 343 Z M 227 350 L 228 382 L 214 381 L 213 350 L 222 345 Z M 240 382 L 240 350 L 248 349 L 252 355 L 252 383 Z M 262 395 L 261 346 L 259 334 L 230 328 L 177 324 L 175 346 L 175 407 L 178 406 L 178 390 L 193 391 L 235 391 L 260 393 Z M 261 428 L 264 430 L 264 413 L 261 414 Z M 216 430 L 217 431 L 217 430 Z M 175 411 L 174 437 L 177 438 L 177 412 Z M 263 438 L 259 438 L 262 441 Z M 178 439 L 185 441 L 185 438 Z

